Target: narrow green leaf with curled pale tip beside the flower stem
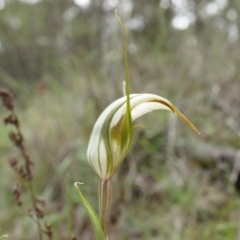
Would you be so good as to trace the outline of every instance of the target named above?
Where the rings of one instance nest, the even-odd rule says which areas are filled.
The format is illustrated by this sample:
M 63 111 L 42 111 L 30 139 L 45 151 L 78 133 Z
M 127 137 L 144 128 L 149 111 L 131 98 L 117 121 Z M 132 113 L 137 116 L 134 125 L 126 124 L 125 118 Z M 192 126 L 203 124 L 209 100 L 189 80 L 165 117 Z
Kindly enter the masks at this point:
M 74 185 L 75 185 L 75 188 L 77 189 L 78 195 L 79 195 L 84 207 L 87 209 L 88 216 L 89 216 L 92 226 L 93 226 L 96 240 L 107 240 L 107 237 L 104 235 L 103 230 L 101 228 L 100 220 L 99 220 L 97 213 L 95 212 L 93 207 L 89 204 L 89 202 L 86 200 L 86 198 L 81 193 L 81 191 L 78 187 L 78 184 L 83 184 L 83 183 L 76 182 Z

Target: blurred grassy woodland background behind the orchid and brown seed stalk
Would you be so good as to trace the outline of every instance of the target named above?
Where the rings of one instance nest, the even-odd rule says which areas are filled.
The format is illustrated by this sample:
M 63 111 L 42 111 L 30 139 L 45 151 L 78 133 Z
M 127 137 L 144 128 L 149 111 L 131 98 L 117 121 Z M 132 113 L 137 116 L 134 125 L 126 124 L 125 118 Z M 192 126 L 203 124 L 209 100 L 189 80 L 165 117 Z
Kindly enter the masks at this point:
M 109 239 L 239 240 L 240 2 L 0 0 L 0 84 L 14 94 L 54 239 L 94 239 L 73 183 L 85 183 L 97 209 L 85 152 L 97 117 L 123 94 L 115 8 L 128 32 L 131 92 L 169 99 L 201 135 L 164 111 L 138 121 L 146 130 L 136 130 L 113 179 Z M 37 239 L 12 195 L 21 179 L 8 163 L 19 156 L 10 130 L 0 125 L 0 233 Z M 22 199 L 28 208 L 24 184 Z

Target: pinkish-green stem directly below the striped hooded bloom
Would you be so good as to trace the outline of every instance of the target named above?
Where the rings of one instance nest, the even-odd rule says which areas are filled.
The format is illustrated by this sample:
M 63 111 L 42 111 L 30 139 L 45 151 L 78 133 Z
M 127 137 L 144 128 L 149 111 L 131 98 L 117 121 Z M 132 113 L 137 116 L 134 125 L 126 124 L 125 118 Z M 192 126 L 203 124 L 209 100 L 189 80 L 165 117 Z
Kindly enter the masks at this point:
M 100 180 L 99 189 L 99 218 L 102 230 L 107 235 L 107 226 L 111 211 L 112 184 L 111 180 Z

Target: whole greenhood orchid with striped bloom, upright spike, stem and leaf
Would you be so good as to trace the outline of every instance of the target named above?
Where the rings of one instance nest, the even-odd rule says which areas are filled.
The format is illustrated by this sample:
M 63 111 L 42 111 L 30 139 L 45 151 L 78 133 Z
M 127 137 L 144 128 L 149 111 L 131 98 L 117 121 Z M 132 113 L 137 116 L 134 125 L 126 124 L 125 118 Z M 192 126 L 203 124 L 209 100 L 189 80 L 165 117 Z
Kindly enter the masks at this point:
M 115 15 L 122 27 L 124 37 L 125 96 L 111 103 L 99 116 L 93 127 L 87 149 L 87 159 L 93 171 L 100 178 L 99 216 L 82 195 L 78 187 L 79 183 L 75 183 L 79 197 L 88 211 L 97 240 L 107 240 L 107 225 L 112 198 L 111 178 L 132 146 L 133 121 L 149 112 L 163 109 L 176 113 L 199 133 L 194 125 L 167 99 L 149 93 L 130 94 L 126 32 L 116 11 Z

